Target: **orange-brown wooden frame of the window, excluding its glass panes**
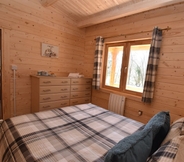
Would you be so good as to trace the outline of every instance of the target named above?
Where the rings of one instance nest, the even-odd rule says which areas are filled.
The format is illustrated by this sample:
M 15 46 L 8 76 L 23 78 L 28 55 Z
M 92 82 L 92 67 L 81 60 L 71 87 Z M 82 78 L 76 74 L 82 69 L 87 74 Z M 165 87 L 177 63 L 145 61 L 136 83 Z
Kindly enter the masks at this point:
M 130 47 L 131 45 L 143 45 L 143 44 L 151 44 L 150 39 L 146 40 L 136 40 L 136 41 L 126 41 L 126 42 L 118 42 L 118 43 L 106 43 L 104 48 L 104 59 L 103 59 L 103 75 L 102 75 L 102 88 L 110 91 L 116 91 L 119 93 L 126 93 L 135 96 L 142 96 L 142 93 L 131 91 L 126 89 L 126 81 L 128 74 L 128 63 L 130 56 Z M 108 57 L 108 48 L 115 46 L 123 46 L 123 58 L 122 58 L 122 67 L 120 74 L 120 85 L 119 88 L 105 85 L 106 79 L 106 67 L 107 67 L 107 57 Z

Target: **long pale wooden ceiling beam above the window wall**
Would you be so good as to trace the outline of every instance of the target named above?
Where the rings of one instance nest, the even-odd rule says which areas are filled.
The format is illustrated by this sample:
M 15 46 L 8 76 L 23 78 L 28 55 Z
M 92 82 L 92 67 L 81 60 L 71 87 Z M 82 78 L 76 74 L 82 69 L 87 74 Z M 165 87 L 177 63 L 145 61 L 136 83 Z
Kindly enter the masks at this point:
M 110 20 L 156 9 L 159 7 L 176 4 L 179 2 L 184 2 L 184 0 L 144 0 L 127 6 L 119 5 L 106 11 L 94 14 L 91 16 L 91 18 L 80 21 L 78 23 L 78 27 L 88 27 L 91 25 L 107 22 Z

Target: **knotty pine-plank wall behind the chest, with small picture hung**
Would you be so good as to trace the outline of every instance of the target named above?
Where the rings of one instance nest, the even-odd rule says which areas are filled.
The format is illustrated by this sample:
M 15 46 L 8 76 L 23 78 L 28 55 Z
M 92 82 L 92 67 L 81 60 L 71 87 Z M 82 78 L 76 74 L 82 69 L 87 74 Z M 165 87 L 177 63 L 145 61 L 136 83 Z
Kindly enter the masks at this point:
M 3 115 L 13 116 L 13 72 L 17 65 L 17 115 L 30 112 L 30 75 L 38 70 L 67 76 L 83 72 L 85 29 L 66 14 L 43 7 L 37 0 L 1 0 L 0 28 L 3 32 Z M 59 58 L 41 56 L 41 42 L 57 45 Z

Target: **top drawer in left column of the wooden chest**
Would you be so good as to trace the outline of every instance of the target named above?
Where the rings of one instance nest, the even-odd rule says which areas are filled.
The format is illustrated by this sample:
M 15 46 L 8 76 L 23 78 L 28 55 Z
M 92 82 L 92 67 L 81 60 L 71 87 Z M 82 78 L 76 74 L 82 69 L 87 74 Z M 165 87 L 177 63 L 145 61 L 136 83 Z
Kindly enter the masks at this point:
M 70 85 L 70 79 L 41 78 L 40 85 Z

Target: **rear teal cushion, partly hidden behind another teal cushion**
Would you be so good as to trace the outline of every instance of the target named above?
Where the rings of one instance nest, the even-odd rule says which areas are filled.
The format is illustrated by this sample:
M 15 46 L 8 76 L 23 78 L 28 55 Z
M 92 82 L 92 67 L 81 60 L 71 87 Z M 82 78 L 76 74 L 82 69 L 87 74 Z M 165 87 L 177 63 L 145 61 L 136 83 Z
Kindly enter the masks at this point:
M 153 131 L 153 146 L 150 155 L 155 152 L 161 145 L 170 129 L 169 112 L 159 112 L 154 115 L 146 124 L 144 129 L 151 128 Z

